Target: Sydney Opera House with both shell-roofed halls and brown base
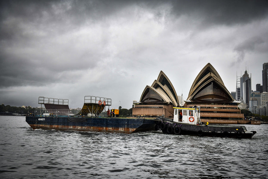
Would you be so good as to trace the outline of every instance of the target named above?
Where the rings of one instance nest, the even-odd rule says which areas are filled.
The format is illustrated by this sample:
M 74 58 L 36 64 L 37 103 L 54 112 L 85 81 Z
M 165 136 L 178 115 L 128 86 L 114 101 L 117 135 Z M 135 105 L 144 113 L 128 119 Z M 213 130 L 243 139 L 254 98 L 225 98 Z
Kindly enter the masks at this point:
M 140 101 L 133 102 L 133 116 L 173 118 L 173 107 L 200 106 L 202 121 L 244 120 L 238 104 L 226 89 L 221 77 L 208 63 L 195 78 L 187 100 L 178 96 L 169 78 L 161 71 L 151 86 L 146 86 Z M 227 122 L 227 121 L 226 121 Z

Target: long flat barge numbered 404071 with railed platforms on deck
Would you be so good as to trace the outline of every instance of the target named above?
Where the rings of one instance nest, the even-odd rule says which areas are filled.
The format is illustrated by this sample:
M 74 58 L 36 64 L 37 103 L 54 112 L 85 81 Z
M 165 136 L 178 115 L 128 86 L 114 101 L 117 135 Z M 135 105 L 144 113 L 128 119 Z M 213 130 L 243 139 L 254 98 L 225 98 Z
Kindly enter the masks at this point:
M 85 96 L 84 105 L 78 112 L 71 112 L 66 99 L 39 97 L 38 104 L 41 104 L 40 112 L 36 110 L 26 116 L 32 129 L 123 133 L 155 130 L 155 119 L 119 118 L 118 109 L 109 109 L 110 98 Z M 106 117 L 101 117 L 103 113 Z

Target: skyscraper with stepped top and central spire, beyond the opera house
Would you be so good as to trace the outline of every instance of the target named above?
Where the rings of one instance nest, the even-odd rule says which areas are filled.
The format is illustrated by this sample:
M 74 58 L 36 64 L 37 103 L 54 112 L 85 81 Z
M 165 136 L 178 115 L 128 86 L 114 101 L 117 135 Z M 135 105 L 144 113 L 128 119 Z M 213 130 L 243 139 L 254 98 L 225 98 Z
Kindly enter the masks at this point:
M 249 104 L 251 94 L 251 77 L 247 74 L 247 70 L 240 78 L 240 96 L 243 97 L 244 103 Z

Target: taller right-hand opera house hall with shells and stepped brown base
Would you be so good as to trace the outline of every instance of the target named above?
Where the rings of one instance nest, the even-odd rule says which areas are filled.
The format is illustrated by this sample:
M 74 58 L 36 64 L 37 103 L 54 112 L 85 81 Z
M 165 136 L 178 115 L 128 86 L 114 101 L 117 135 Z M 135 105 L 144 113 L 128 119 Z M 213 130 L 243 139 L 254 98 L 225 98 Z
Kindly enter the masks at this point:
M 210 63 L 195 78 L 185 102 L 185 107 L 201 107 L 202 121 L 224 120 L 222 123 L 228 123 L 226 120 L 244 120 L 244 114 L 238 108 L 240 101 L 234 100 Z

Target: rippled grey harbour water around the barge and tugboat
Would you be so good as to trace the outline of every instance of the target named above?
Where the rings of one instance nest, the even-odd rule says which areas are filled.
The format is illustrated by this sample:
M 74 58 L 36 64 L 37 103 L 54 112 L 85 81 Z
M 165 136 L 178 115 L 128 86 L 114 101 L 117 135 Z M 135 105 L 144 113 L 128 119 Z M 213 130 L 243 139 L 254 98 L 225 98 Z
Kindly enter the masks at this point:
M 268 125 L 252 139 L 32 130 L 0 116 L 0 178 L 268 178 Z

